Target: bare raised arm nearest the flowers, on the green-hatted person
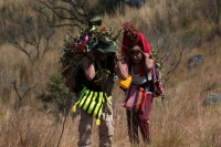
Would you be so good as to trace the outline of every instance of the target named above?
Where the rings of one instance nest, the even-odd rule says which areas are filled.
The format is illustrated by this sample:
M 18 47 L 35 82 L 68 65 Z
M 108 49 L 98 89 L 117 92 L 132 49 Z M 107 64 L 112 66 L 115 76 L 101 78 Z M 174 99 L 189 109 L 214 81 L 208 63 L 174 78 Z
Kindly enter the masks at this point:
M 93 50 L 90 50 L 86 54 L 86 56 L 84 56 L 82 59 L 82 65 L 84 69 L 84 74 L 86 76 L 86 78 L 88 81 L 92 81 L 95 76 L 95 56 L 94 56 L 94 52 Z

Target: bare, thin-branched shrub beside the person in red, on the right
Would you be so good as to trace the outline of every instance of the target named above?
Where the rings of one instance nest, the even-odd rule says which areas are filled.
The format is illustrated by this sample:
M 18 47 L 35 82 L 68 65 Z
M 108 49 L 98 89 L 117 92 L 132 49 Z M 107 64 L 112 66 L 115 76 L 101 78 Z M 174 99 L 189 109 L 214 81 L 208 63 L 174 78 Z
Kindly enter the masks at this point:
M 151 46 L 156 50 L 161 69 L 166 70 L 162 76 L 162 86 L 165 86 L 181 63 L 185 55 L 190 49 L 197 45 L 199 40 L 187 36 L 172 38 L 169 33 L 165 36 L 161 34 L 156 35 L 156 33 L 151 34 L 152 35 L 149 35 L 149 40 L 152 42 Z M 167 69 L 165 67 L 166 65 Z

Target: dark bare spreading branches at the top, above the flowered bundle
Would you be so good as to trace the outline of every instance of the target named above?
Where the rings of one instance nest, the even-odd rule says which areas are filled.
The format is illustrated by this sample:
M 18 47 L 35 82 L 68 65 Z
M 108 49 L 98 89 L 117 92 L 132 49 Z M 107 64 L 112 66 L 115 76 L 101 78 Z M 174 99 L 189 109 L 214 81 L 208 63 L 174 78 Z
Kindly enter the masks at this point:
M 92 17 L 105 12 L 105 7 L 91 7 L 91 0 L 36 0 L 36 2 L 39 2 L 40 6 L 33 6 L 32 8 L 45 17 L 46 22 L 51 28 L 82 28 L 82 24 L 86 24 L 87 20 Z M 49 14 L 49 10 L 53 15 Z M 62 21 L 55 22 L 55 19 Z

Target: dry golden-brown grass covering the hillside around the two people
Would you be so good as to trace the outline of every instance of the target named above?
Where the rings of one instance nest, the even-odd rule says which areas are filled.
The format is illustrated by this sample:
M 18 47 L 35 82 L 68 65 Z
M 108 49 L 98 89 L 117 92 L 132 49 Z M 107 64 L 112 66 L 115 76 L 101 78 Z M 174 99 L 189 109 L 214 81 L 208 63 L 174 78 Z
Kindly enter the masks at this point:
M 1 9 L 10 8 L 14 2 L 15 6 L 20 3 L 24 7 L 22 0 L 10 0 L 1 1 Z M 31 9 L 24 12 L 23 14 L 35 14 Z M 146 34 L 154 48 L 157 48 L 159 40 L 166 35 L 169 36 L 170 44 L 183 35 L 185 39 L 198 41 L 194 48 L 187 50 L 178 69 L 167 82 L 165 106 L 160 97 L 154 99 L 150 116 L 151 146 L 220 147 L 221 107 L 220 105 L 202 106 L 202 101 L 212 93 L 221 94 L 220 15 L 215 1 L 149 0 L 140 9 L 118 8 L 115 15 L 104 14 L 102 18 L 106 25 L 110 25 L 109 20 L 113 20 L 113 25 L 117 29 L 123 22 L 131 21 Z M 0 36 L 0 133 L 2 134 L 0 146 L 54 147 L 57 145 L 65 119 L 62 115 L 54 117 L 54 114 L 39 111 L 43 104 L 36 99 L 36 93 L 46 90 L 51 74 L 61 72 L 59 48 L 63 45 L 63 39 L 70 33 L 78 32 L 72 28 L 59 29 L 50 42 L 52 49 L 34 63 L 9 42 L 3 42 L 4 36 Z M 32 53 L 32 50 L 30 51 Z M 194 69 L 188 69 L 189 57 L 196 54 L 203 55 L 204 62 Z M 169 61 L 173 57 L 170 56 L 162 74 L 166 74 L 170 66 Z M 120 106 L 123 99 L 123 92 L 116 90 L 113 147 L 129 146 L 125 109 Z M 19 102 L 21 104 L 18 106 Z M 78 116 L 73 119 L 71 114 L 66 117 L 61 147 L 76 146 L 78 119 Z M 96 147 L 98 144 L 96 126 L 93 133 L 93 147 Z

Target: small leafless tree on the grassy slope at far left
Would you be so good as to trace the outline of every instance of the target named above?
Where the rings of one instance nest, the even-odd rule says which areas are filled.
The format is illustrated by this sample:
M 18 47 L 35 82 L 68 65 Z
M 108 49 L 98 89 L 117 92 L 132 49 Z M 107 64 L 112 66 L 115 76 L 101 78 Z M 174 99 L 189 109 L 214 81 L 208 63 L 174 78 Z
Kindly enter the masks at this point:
M 28 12 L 28 13 L 27 13 Z M 0 10 L 0 32 L 4 42 L 24 53 L 30 61 L 40 60 L 51 49 L 54 29 L 28 4 L 11 3 Z

